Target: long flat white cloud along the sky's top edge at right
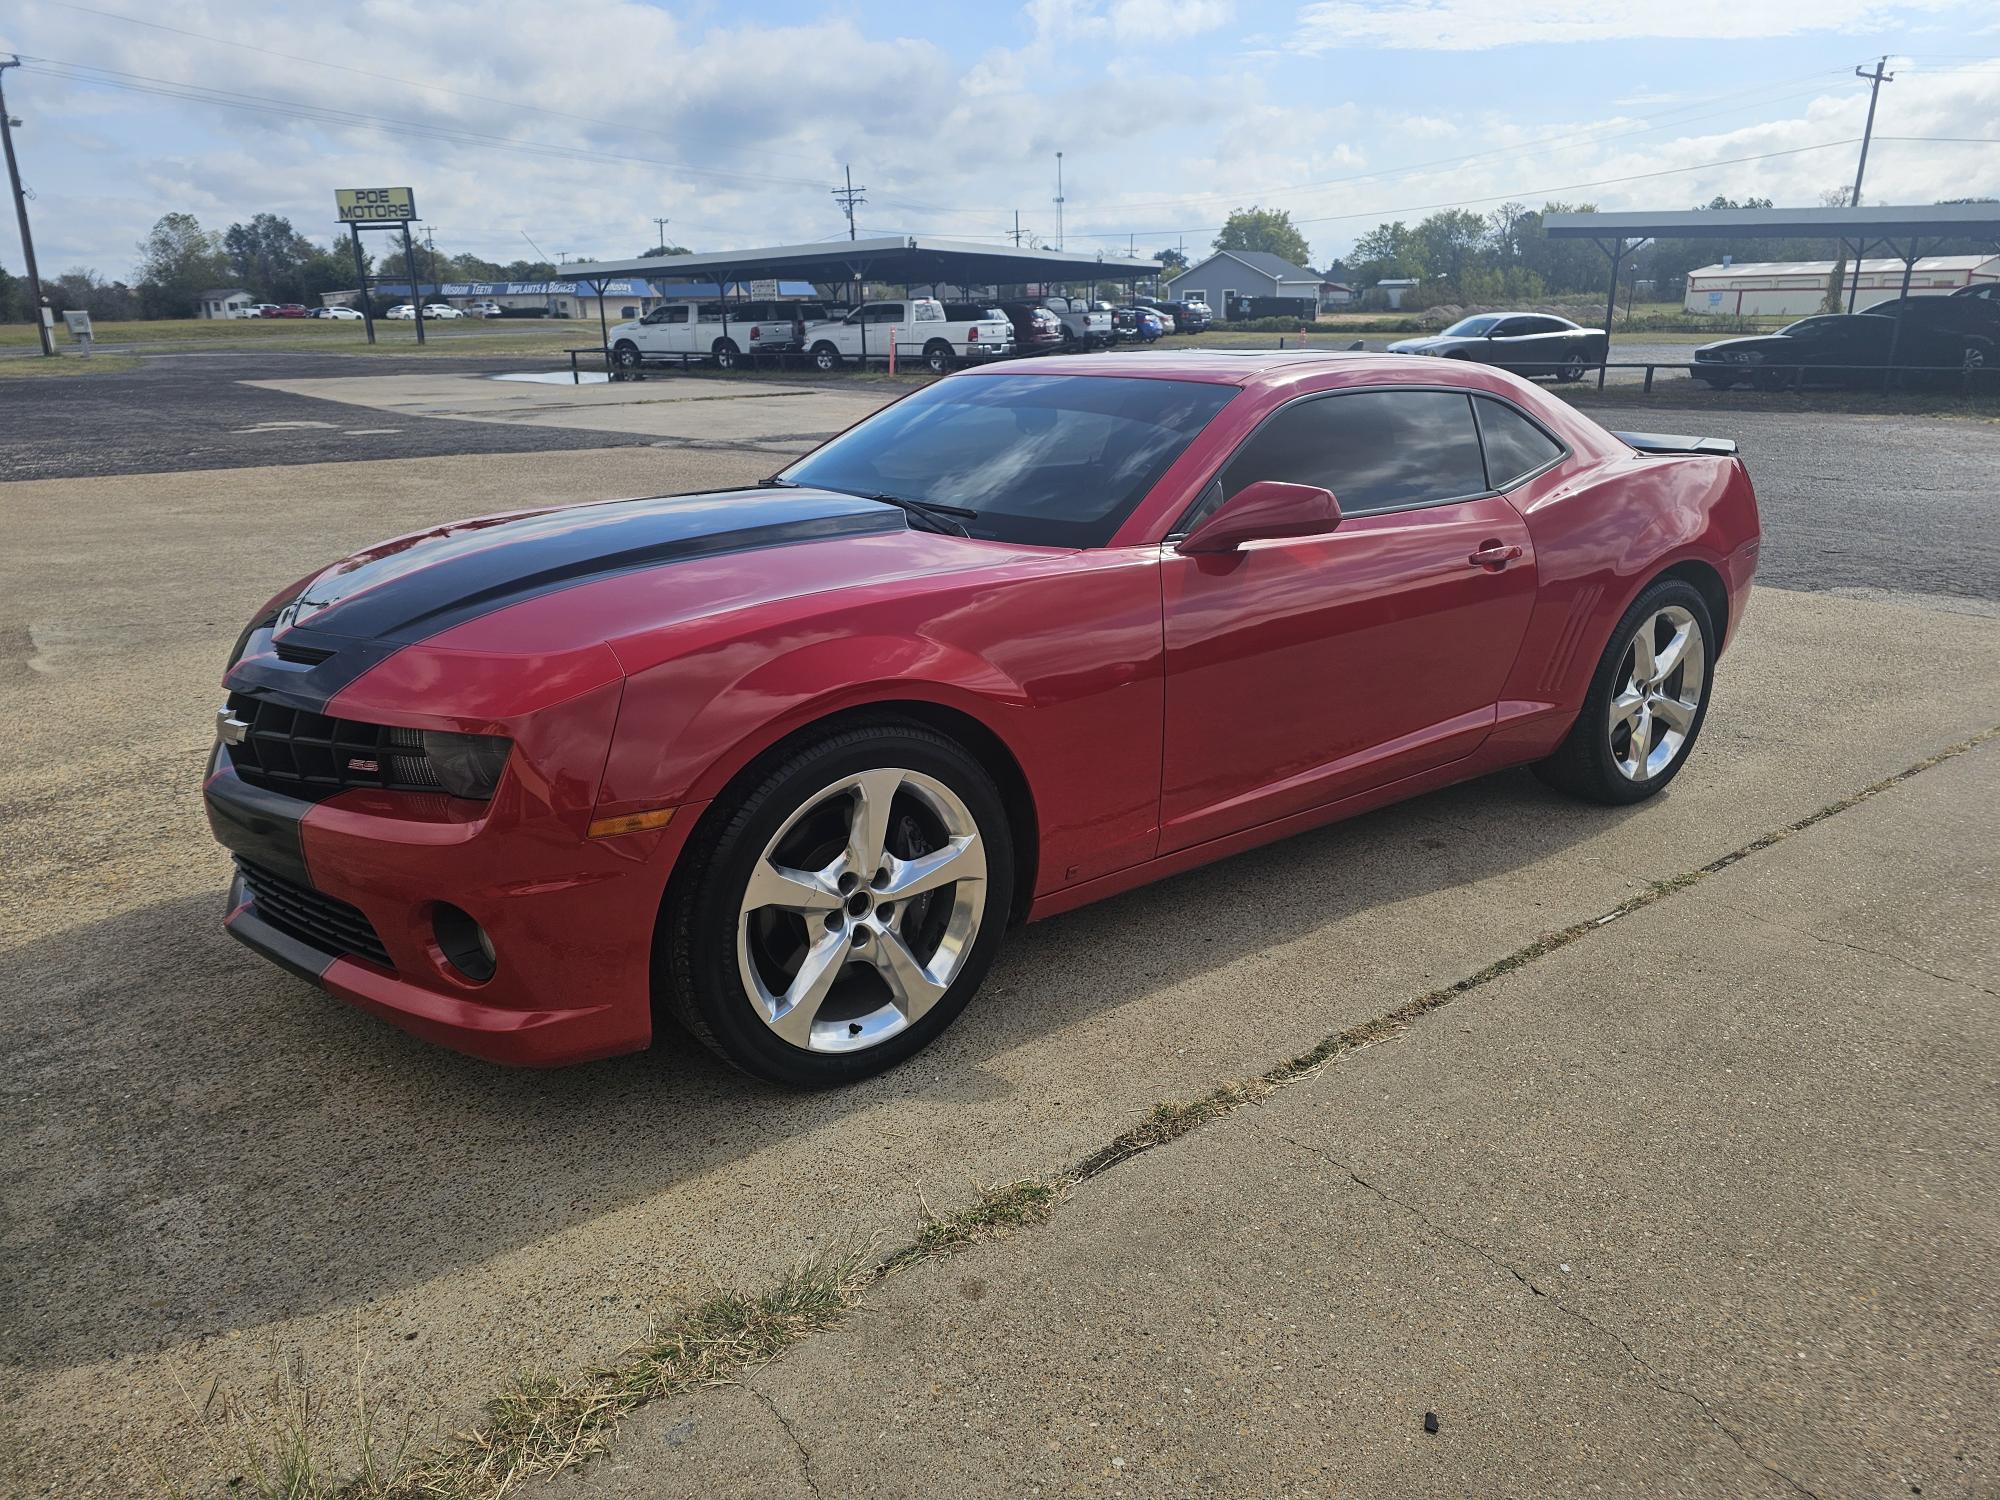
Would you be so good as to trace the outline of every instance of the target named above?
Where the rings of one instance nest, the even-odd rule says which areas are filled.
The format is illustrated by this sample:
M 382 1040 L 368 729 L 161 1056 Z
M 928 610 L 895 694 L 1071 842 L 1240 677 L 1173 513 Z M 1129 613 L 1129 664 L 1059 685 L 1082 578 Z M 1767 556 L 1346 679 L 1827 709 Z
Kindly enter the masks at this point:
M 1640 38 L 1746 40 L 1808 32 L 1870 32 L 1954 0 L 1312 0 L 1298 12 L 1306 50 L 1490 46 Z

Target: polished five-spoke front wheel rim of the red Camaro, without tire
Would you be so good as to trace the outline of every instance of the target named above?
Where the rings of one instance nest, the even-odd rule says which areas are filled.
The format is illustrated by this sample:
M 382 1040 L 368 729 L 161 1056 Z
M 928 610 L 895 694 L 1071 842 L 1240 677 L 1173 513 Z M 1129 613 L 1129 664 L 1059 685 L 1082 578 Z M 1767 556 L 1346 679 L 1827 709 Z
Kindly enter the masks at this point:
M 736 918 L 758 1016 L 808 1052 L 914 1026 L 964 970 L 986 910 L 986 846 L 964 800 L 914 770 L 844 776 L 772 834 Z

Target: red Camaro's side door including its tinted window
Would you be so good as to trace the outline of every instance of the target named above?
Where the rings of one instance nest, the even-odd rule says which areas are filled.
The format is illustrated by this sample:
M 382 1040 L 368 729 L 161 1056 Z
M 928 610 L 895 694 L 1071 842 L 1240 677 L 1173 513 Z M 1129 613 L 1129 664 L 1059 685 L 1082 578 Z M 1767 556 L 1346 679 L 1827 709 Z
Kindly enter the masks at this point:
M 1492 730 L 1534 606 L 1534 544 L 1488 490 L 1470 396 L 1304 396 L 1224 466 L 1318 484 L 1326 536 L 1162 552 L 1160 852 L 1448 764 Z

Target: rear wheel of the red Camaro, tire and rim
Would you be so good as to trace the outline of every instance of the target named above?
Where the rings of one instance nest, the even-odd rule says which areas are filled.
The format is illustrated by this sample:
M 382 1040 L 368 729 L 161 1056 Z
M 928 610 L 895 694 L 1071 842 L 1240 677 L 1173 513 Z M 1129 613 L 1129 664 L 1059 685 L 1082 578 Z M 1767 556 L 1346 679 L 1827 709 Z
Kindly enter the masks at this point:
M 1708 718 L 1718 640 L 1694 584 L 1662 578 L 1642 590 L 1598 660 L 1576 724 L 1536 776 L 1608 806 L 1660 792 Z

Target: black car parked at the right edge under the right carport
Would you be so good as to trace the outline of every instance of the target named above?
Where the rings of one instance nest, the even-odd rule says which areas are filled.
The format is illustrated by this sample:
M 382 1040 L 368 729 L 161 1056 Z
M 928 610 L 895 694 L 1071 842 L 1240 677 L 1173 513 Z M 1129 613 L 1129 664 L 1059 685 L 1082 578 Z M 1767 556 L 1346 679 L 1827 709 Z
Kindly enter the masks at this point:
M 1712 390 L 1872 386 L 1892 362 L 1904 372 L 1900 384 L 1958 380 L 1966 370 L 1992 368 L 1994 340 L 1920 318 L 1830 312 L 1800 318 L 1774 334 L 1702 344 L 1694 350 L 1694 378 Z

